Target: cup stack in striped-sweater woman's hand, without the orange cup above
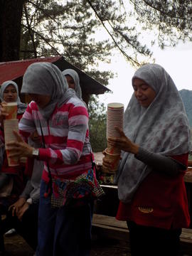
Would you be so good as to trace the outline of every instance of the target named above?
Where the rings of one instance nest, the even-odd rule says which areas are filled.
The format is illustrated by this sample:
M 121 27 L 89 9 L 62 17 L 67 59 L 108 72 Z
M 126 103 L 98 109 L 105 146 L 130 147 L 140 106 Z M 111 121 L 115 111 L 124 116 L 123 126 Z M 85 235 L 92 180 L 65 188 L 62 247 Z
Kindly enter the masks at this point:
M 18 119 L 9 119 L 4 120 L 4 137 L 5 137 L 5 143 L 11 142 L 11 141 L 17 141 L 13 130 L 16 130 L 18 132 Z M 9 151 L 6 149 L 6 156 L 8 159 L 9 166 L 18 166 L 19 165 L 19 159 L 16 157 L 9 157 Z

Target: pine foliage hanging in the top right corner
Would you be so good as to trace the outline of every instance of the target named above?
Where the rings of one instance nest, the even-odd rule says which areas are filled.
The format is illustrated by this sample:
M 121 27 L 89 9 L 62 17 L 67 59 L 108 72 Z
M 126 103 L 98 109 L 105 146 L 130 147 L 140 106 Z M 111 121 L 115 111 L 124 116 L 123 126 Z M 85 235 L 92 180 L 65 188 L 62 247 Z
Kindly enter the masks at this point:
M 191 0 L 130 0 L 132 15 L 144 29 L 153 30 L 161 48 L 176 46 L 179 40 L 192 41 Z

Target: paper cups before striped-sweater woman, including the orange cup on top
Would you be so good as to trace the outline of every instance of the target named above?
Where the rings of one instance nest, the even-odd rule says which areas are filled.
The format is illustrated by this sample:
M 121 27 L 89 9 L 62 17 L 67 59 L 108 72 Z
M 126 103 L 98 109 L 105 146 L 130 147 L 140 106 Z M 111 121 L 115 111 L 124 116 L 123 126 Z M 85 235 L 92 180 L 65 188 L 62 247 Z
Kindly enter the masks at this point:
M 9 113 L 9 116 L 4 120 L 4 135 L 5 135 L 5 144 L 7 142 L 16 141 L 16 137 L 14 135 L 14 130 L 18 132 L 18 119 L 16 119 L 17 114 L 17 103 L 9 102 L 6 104 L 6 112 Z M 18 166 L 19 159 L 9 157 L 9 151 L 6 149 L 6 155 L 8 159 L 9 166 Z

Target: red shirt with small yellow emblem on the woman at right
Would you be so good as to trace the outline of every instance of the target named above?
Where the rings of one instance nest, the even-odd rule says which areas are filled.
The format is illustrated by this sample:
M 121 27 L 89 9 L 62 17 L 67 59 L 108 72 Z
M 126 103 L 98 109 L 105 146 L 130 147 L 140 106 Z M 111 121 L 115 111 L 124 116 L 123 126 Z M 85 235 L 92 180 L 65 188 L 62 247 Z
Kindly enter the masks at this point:
M 171 158 L 187 166 L 188 154 Z M 156 228 L 188 228 L 190 216 L 184 174 L 181 171 L 177 176 L 167 176 L 151 171 L 139 186 L 132 202 L 119 203 L 116 218 Z

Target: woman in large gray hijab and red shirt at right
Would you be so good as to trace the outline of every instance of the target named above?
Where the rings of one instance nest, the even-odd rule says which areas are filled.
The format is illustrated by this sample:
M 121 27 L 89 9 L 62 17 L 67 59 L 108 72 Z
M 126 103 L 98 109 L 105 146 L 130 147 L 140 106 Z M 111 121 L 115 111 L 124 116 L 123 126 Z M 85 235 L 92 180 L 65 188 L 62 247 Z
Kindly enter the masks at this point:
M 122 150 L 117 171 L 118 220 L 126 220 L 132 255 L 178 255 L 181 228 L 190 223 L 183 175 L 190 129 L 181 97 L 160 65 L 132 78 L 134 94 L 124 132 L 108 142 Z M 106 168 L 110 168 L 103 159 Z

